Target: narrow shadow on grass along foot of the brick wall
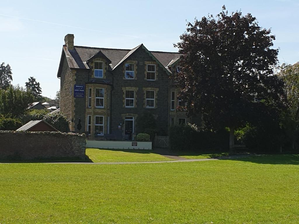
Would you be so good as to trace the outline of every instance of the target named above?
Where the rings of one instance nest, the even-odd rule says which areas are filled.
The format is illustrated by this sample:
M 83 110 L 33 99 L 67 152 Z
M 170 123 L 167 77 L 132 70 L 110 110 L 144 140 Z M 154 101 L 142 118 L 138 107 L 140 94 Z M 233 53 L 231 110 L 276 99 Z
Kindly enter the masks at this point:
M 0 159 L 0 163 L 45 163 L 45 162 L 92 162 L 87 155 L 84 158 L 79 157 L 51 157 L 51 158 L 35 158 L 35 159 L 19 159 L 6 158 Z

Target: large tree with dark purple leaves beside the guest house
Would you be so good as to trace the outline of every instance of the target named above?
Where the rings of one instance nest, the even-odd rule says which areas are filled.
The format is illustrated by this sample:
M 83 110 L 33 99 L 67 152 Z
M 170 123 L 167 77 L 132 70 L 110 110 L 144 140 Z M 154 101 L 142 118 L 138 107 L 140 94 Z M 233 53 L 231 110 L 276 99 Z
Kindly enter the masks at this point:
M 283 82 L 272 70 L 278 50 L 271 48 L 275 37 L 270 33 L 251 14 L 229 15 L 223 6 L 216 17 L 187 23 L 175 45 L 182 54 L 176 79 L 187 114 L 201 113 L 207 124 L 229 127 L 230 150 L 236 128 L 258 119 L 258 113 L 271 113 L 265 111 L 268 105 L 283 108 Z M 255 95 L 262 100 L 256 102 Z

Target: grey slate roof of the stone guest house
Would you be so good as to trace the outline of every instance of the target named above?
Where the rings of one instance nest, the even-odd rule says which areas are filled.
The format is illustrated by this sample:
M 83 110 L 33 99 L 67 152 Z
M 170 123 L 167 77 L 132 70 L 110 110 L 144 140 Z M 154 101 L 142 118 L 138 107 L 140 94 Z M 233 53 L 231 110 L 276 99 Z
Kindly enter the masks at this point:
M 142 45 L 142 44 L 141 44 Z M 129 57 L 138 47 L 133 49 L 113 49 L 113 48 L 99 48 L 99 47 L 84 47 L 84 46 L 74 46 L 74 50 L 68 50 L 66 45 L 63 45 L 62 53 L 65 53 L 68 66 L 70 68 L 81 68 L 89 69 L 86 61 L 90 59 L 95 54 L 101 51 L 110 61 L 110 68 L 113 69 L 116 65 L 123 62 L 127 57 Z M 149 51 L 153 56 L 170 72 L 167 65 L 171 60 L 178 58 L 180 56 L 177 52 L 163 52 L 163 51 Z M 59 70 L 60 71 L 60 70 Z M 60 75 L 58 71 L 58 76 Z

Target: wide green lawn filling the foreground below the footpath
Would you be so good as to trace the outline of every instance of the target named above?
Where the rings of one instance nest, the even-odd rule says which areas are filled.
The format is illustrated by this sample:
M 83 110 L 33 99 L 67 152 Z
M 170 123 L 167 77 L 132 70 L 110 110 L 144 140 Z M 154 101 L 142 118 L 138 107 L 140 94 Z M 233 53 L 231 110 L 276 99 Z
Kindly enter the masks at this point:
M 0 223 L 298 223 L 298 164 L 0 164 Z

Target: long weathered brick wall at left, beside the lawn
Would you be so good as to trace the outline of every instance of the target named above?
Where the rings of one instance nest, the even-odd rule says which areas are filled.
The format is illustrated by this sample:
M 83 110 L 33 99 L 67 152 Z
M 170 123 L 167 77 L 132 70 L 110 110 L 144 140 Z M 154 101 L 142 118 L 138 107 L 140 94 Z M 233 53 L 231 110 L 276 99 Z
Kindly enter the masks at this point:
M 0 159 L 85 158 L 85 135 L 0 131 Z

